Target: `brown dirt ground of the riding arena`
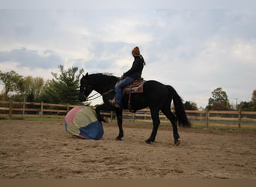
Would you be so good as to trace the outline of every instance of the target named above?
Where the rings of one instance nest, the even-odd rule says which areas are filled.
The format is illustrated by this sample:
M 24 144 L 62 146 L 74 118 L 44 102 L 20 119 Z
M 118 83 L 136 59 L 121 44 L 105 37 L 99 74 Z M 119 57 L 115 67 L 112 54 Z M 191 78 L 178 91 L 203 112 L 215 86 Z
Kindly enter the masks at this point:
M 0 120 L 0 179 L 256 179 L 256 132 L 104 124 L 103 139 L 73 138 L 63 121 Z

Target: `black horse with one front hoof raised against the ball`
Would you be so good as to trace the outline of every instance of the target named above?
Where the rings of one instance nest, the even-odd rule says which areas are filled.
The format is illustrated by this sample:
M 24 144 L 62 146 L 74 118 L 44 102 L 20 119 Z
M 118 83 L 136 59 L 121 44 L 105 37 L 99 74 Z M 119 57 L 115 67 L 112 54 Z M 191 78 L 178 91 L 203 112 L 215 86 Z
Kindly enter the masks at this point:
M 124 94 L 121 102 L 121 108 L 115 108 L 109 104 L 109 99 L 113 99 L 115 96 L 115 84 L 120 79 L 106 75 L 103 73 L 96 73 L 88 75 L 88 73 L 82 77 L 80 81 L 79 100 L 85 101 L 88 99 L 89 94 L 92 91 L 97 91 L 103 96 L 103 105 L 98 105 L 95 109 L 97 113 L 97 119 L 105 121 L 106 118 L 100 114 L 100 111 L 115 111 L 118 119 L 119 135 L 116 138 L 121 140 L 124 137 L 124 131 L 122 126 L 122 108 L 128 108 L 128 94 Z M 176 116 L 171 112 L 171 100 L 174 100 L 174 108 Z M 180 135 L 177 132 L 177 121 L 181 126 L 190 127 L 191 123 L 186 117 L 186 113 L 183 107 L 183 102 L 177 92 L 170 85 L 163 85 L 156 81 L 147 81 L 143 85 L 143 93 L 132 93 L 130 96 L 130 103 L 132 105 L 132 111 L 136 111 L 142 108 L 149 107 L 150 114 L 153 120 L 153 130 L 150 138 L 146 140 L 147 144 L 155 141 L 156 132 L 159 127 L 159 111 L 171 121 L 173 127 L 174 144 L 180 144 Z

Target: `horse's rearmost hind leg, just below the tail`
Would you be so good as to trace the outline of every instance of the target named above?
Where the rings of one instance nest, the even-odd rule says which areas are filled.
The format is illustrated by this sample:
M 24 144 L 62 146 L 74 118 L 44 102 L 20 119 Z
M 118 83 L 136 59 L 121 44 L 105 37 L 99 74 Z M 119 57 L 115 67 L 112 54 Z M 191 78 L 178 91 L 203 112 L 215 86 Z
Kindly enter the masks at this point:
M 162 113 L 165 114 L 165 116 L 168 118 L 168 120 L 171 121 L 173 135 L 174 135 L 174 145 L 178 146 L 180 144 L 180 140 L 179 140 L 180 135 L 177 131 L 177 119 L 174 116 L 174 114 L 172 114 L 171 109 L 169 107 L 162 109 Z

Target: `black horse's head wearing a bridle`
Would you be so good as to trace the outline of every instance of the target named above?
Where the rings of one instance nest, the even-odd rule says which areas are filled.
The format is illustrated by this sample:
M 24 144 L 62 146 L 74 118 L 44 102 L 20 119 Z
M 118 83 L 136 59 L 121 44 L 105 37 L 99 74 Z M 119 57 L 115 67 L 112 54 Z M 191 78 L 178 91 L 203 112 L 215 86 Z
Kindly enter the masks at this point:
M 82 76 L 82 79 L 80 80 L 79 101 L 86 101 L 87 97 L 93 90 L 94 89 L 89 81 L 88 73 L 86 73 L 86 75 Z

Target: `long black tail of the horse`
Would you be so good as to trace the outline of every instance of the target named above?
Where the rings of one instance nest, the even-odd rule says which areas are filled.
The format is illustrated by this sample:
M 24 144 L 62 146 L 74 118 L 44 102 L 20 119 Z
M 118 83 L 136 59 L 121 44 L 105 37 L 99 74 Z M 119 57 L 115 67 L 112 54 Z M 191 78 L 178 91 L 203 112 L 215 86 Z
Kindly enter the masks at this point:
M 170 96 L 174 100 L 174 108 L 179 125 L 182 125 L 184 127 L 191 127 L 191 123 L 186 117 L 183 100 L 180 98 L 180 96 L 178 95 L 177 91 L 174 90 L 174 88 L 172 88 L 170 85 L 167 85 L 166 87 L 169 90 Z

